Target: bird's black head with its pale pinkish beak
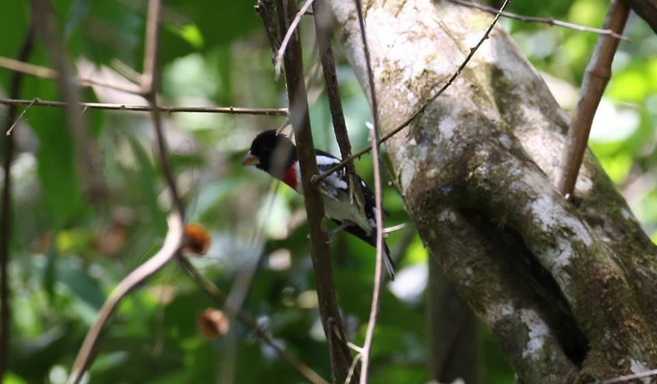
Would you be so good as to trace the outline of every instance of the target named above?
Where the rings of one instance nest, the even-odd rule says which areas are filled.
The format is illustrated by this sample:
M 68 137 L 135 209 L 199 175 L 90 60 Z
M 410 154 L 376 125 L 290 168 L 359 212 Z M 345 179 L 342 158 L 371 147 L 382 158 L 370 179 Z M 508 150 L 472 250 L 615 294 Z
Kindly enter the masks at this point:
M 263 131 L 251 142 L 244 156 L 243 166 L 255 166 L 281 179 L 285 170 L 296 161 L 296 148 L 292 141 L 273 129 Z

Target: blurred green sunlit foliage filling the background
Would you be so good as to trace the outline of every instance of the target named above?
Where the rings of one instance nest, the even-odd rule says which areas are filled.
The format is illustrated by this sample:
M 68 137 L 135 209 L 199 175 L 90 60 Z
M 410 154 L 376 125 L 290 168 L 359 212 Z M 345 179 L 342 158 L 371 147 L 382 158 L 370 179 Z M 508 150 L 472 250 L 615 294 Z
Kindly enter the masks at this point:
M 146 1 L 54 0 L 71 62 L 79 71 L 140 71 Z M 14 57 L 29 22 L 27 1 L 1 1 L 0 55 Z M 550 16 L 598 26 L 606 1 L 537 3 L 519 0 L 511 12 Z M 163 103 L 170 105 L 285 105 L 283 81 L 275 82 L 271 52 L 253 1 L 166 0 L 162 28 Z M 504 20 L 529 60 L 571 109 L 593 50 L 594 34 Z M 312 68 L 313 28 L 302 29 L 311 79 L 315 144 L 339 153 L 333 139 L 321 79 Z M 595 120 L 591 148 L 617 183 L 645 229 L 657 238 L 657 38 L 630 16 L 614 62 L 614 74 Z M 335 49 L 339 52 L 339 49 Z M 85 59 L 85 60 L 82 60 Z M 368 106 L 344 57 L 339 61 L 344 110 L 352 144 L 367 144 Z M 30 62 L 51 66 L 38 43 Z M 6 94 L 10 71 L 0 69 Z M 88 101 L 143 103 L 103 88 L 85 90 Z M 21 98 L 57 100 L 53 81 L 25 78 Z M 5 116 L 6 111 L 0 110 Z M 19 153 L 12 168 L 12 340 L 5 384 L 64 383 L 77 348 L 105 296 L 127 272 L 153 255 L 166 231 L 164 181 L 153 155 L 147 114 L 86 111 L 94 132 L 106 193 L 94 204 L 83 198 L 74 143 L 64 111 L 33 107 L 14 135 Z M 164 116 L 172 164 L 184 192 L 188 220 L 210 229 L 214 244 L 194 263 L 229 292 L 246 261 L 262 254 L 244 309 L 290 352 L 324 377 L 329 361 L 318 320 L 317 299 L 302 201 L 285 186 L 240 166 L 257 131 L 279 127 L 283 118 L 219 114 Z M 370 159 L 357 162 L 372 180 Z M 0 173 L 0 179 L 3 173 Z M 268 186 L 270 185 L 270 186 Z M 387 225 L 407 220 L 389 189 Z M 404 230 L 391 233 L 395 249 Z M 339 235 L 331 246 L 348 337 L 363 340 L 372 290 L 374 251 Z M 346 256 L 348 255 L 348 256 Z M 426 251 L 413 238 L 399 263 L 399 278 L 383 297 L 372 362 L 372 383 L 426 381 L 424 287 Z M 196 318 L 216 306 L 172 264 L 120 305 L 87 377 L 92 383 L 280 383 L 302 380 L 248 329 L 206 340 Z M 486 333 L 482 346 L 485 383 L 513 383 L 513 373 Z

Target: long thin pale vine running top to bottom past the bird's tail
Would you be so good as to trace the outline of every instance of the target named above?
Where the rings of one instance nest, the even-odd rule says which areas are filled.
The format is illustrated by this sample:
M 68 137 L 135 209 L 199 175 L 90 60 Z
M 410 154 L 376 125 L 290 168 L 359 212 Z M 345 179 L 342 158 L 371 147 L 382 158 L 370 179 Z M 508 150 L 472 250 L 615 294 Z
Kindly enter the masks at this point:
M 363 4 L 361 0 L 356 1 L 356 12 L 358 14 L 358 23 L 361 29 L 361 41 L 363 42 L 363 53 L 365 55 L 365 64 L 368 69 L 368 82 L 370 88 L 370 103 L 372 104 L 372 116 L 374 125 L 370 127 L 370 137 L 372 138 L 372 163 L 374 164 L 374 201 L 376 205 L 376 264 L 374 267 L 374 288 L 372 292 L 372 305 L 370 306 L 370 321 L 368 329 L 365 331 L 365 344 L 363 344 L 363 353 L 361 353 L 361 384 L 368 384 L 370 375 L 370 352 L 374 343 L 374 330 L 376 329 L 376 320 L 378 318 L 378 308 L 381 306 L 381 288 L 383 287 L 383 208 L 381 207 L 381 159 L 378 155 L 378 149 L 381 145 L 379 139 L 379 120 L 378 120 L 378 103 L 376 101 L 376 88 L 374 86 L 374 73 L 372 72 L 372 59 L 370 57 L 370 48 L 368 47 L 368 38 L 365 34 L 365 20 L 363 18 Z

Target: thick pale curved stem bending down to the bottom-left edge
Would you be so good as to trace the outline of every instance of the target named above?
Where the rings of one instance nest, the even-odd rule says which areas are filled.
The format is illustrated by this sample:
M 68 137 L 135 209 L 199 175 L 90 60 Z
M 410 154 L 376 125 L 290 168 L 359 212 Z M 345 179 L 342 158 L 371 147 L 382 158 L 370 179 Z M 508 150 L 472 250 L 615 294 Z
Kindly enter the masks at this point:
M 75 363 L 73 363 L 73 368 L 70 370 L 70 376 L 68 376 L 68 380 L 66 381 L 67 384 L 79 383 L 84 370 L 86 370 L 90 362 L 91 355 L 101 336 L 103 328 L 105 327 L 105 324 L 107 324 L 107 320 L 110 320 L 110 316 L 114 313 L 114 309 L 116 309 L 120 300 L 177 255 L 177 252 L 183 243 L 183 222 L 181 217 L 182 216 L 177 213 L 169 216 L 169 229 L 166 233 L 166 238 L 164 238 L 162 248 L 160 248 L 160 250 L 144 264 L 130 272 L 125 279 L 116 285 L 116 288 L 114 288 L 110 296 L 107 297 L 107 300 L 105 300 L 103 307 L 101 307 L 101 310 L 98 313 L 96 322 L 94 322 L 87 332 L 84 342 L 77 353 Z

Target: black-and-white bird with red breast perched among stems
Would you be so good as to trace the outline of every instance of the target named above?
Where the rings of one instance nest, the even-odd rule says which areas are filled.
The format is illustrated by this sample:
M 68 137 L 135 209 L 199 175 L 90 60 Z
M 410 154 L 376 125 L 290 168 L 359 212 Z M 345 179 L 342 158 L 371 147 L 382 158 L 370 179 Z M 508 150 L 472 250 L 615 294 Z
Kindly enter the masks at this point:
M 316 150 L 315 159 L 320 172 L 329 170 L 340 159 L 326 153 Z M 301 171 L 299 160 L 296 156 L 296 147 L 283 134 L 277 134 L 276 131 L 263 131 L 253 139 L 251 149 L 244 156 L 243 166 L 255 166 L 258 169 L 272 175 L 276 179 L 283 181 L 292 189 L 303 194 L 301 188 Z M 324 212 L 340 227 L 357 238 L 376 246 L 376 207 L 374 193 L 365 184 L 365 181 L 357 177 L 360 188 L 363 191 L 365 200 L 365 215 L 361 214 L 360 209 L 355 203 L 352 204 L 349 193 L 348 176 L 345 168 L 333 172 L 320 183 L 320 192 L 324 201 Z M 383 263 L 394 280 L 395 269 L 388 246 L 383 243 Z

